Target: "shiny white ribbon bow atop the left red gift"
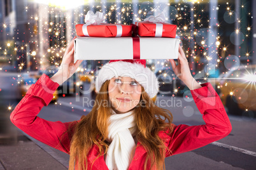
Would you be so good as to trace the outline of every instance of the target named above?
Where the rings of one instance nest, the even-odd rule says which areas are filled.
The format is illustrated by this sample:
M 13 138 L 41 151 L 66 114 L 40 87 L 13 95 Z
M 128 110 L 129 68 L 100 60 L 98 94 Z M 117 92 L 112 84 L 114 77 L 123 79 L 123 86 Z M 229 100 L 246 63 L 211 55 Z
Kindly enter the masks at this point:
M 103 13 L 97 11 L 95 14 L 93 11 L 88 11 L 85 15 L 85 25 L 99 25 L 103 22 Z

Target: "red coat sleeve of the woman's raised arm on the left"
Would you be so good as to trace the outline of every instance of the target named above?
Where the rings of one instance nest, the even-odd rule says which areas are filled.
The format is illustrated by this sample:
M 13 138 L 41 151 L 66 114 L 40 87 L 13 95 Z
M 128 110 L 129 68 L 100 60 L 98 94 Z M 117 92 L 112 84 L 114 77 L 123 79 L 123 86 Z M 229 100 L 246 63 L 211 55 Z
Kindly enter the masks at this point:
M 26 95 L 11 112 L 11 122 L 19 129 L 50 147 L 69 152 L 70 133 L 67 131 L 73 122 L 51 122 L 37 115 L 41 108 L 47 106 L 53 98 L 59 84 L 53 82 L 46 74 L 28 89 Z M 62 136 L 62 134 L 64 134 Z

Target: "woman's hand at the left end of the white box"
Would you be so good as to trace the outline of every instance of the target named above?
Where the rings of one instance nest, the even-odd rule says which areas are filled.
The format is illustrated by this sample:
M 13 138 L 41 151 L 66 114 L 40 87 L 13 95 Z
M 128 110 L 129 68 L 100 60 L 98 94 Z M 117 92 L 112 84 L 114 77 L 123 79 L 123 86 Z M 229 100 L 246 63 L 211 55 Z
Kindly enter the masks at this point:
M 75 38 L 76 36 L 74 37 L 74 39 Z M 52 81 L 55 81 L 58 84 L 62 84 L 63 82 L 68 80 L 69 77 L 71 77 L 71 75 L 76 72 L 76 69 L 78 68 L 80 63 L 83 62 L 83 60 L 77 60 L 76 63 L 74 63 L 74 39 L 69 43 L 68 47 L 66 48 L 58 72 L 51 77 Z

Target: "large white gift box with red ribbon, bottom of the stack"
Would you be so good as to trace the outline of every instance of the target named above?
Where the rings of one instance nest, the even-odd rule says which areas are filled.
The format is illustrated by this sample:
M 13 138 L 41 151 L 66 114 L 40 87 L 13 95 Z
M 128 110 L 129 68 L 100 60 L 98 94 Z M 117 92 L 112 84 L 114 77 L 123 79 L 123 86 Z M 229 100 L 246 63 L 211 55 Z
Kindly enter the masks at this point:
M 77 37 L 74 44 L 74 62 L 76 60 L 177 59 L 179 44 L 180 39 L 169 37 Z

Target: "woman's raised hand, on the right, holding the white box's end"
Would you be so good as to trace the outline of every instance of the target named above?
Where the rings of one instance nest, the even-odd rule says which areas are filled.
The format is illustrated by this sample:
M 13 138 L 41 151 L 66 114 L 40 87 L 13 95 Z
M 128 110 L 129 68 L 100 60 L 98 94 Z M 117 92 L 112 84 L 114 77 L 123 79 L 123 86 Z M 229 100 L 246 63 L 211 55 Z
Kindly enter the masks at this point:
M 169 61 L 171 62 L 171 67 L 173 67 L 174 73 L 181 79 L 181 81 L 186 83 L 193 79 L 188 66 L 188 60 L 181 46 L 179 46 L 178 65 L 176 65 L 174 59 L 169 59 Z

